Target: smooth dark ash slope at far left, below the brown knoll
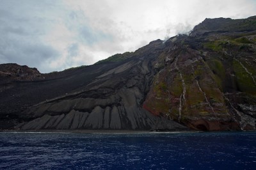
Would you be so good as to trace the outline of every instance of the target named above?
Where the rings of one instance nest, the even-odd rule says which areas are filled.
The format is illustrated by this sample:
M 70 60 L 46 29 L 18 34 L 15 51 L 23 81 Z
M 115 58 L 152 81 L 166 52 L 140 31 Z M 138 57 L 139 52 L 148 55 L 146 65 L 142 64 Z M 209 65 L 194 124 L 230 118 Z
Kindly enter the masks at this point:
M 10 65 L 9 68 L 13 68 L 12 64 L 8 65 Z M 84 66 L 63 72 L 40 74 L 41 79 L 36 81 L 19 80 L 16 76 L 4 77 L 4 81 L 7 83 L 2 81 L 3 83 L 0 84 L 0 127 L 13 128 L 20 121 L 28 121 L 29 118 L 23 115 L 29 107 L 52 98 L 65 96 L 74 91 L 86 89 L 86 84 L 89 84 L 101 73 L 115 68 L 116 65 L 118 63 Z M 0 67 L 2 66 L 0 65 Z M 10 70 L 4 72 L 10 73 Z

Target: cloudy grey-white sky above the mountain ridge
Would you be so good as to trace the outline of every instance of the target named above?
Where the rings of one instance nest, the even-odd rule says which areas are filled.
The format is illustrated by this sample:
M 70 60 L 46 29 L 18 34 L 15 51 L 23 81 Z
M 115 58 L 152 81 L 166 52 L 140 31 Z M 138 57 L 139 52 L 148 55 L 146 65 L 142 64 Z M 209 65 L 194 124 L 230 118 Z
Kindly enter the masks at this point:
M 0 64 L 42 73 L 92 65 L 205 18 L 256 15 L 256 0 L 0 0 Z

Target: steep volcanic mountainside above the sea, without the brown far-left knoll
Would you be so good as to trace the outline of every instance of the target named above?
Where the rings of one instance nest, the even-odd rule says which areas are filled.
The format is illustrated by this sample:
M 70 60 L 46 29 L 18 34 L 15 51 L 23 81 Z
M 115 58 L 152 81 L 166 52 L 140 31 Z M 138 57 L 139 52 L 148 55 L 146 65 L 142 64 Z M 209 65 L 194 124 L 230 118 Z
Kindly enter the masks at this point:
M 156 40 L 36 81 L 15 79 L 0 93 L 0 125 L 255 130 L 255 43 L 255 17 L 205 19 L 189 36 Z

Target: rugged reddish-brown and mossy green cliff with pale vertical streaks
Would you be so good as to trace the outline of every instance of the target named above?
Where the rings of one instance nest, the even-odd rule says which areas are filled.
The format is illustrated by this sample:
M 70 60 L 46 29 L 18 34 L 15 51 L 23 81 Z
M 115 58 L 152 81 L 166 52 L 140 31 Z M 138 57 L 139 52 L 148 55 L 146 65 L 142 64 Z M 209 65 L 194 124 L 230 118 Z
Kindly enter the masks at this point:
M 256 20 L 238 21 L 252 23 L 251 31 L 208 19 L 168 40 L 144 108 L 197 130 L 255 130 Z

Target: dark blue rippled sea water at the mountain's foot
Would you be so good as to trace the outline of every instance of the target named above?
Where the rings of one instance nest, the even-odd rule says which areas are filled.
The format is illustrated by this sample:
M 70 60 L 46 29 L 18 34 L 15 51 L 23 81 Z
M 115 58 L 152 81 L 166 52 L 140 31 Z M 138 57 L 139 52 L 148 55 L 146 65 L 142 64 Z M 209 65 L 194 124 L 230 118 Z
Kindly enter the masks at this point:
M 1 132 L 0 169 L 256 169 L 256 132 Z

